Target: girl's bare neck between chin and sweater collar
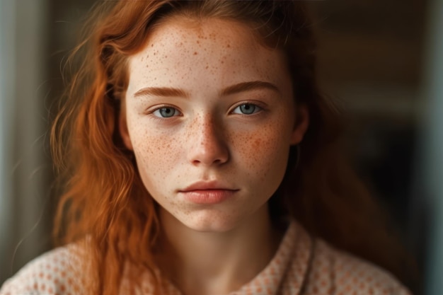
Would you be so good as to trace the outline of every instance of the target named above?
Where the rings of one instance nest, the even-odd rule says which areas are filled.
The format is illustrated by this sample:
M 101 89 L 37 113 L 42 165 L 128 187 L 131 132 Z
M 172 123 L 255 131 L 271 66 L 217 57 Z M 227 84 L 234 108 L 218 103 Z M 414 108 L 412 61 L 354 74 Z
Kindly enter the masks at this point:
M 194 231 L 163 209 L 160 217 L 157 263 L 183 294 L 239 289 L 270 262 L 281 238 L 272 229 L 267 206 L 222 233 Z

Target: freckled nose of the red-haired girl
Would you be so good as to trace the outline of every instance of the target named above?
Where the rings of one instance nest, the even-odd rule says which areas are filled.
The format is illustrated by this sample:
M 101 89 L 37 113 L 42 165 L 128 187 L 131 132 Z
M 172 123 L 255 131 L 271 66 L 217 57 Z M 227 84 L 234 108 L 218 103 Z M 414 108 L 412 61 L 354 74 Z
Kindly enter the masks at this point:
M 221 165 L 229 161 L 224 128 L 211 116 L 198 117 L 189 127 L 188 161 L 195 166 Z

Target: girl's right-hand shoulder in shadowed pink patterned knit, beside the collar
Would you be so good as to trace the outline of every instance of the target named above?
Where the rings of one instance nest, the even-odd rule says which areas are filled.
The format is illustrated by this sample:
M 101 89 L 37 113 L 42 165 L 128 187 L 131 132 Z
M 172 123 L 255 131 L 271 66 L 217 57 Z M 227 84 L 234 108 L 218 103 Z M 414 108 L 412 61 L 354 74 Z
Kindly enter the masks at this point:
M 410 295 L 392 274 L 316 240 L 306 294 Z

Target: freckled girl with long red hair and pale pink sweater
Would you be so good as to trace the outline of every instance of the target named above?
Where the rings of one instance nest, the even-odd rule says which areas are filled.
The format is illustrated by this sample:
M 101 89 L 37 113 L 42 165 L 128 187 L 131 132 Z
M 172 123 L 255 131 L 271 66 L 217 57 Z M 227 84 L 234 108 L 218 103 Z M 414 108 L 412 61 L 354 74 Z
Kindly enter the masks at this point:
M 1 295 L 408 294 L 338 250 L 398 273 L 301 1 L 103 1 L 91 20 L 52 128 L 62 246 Z

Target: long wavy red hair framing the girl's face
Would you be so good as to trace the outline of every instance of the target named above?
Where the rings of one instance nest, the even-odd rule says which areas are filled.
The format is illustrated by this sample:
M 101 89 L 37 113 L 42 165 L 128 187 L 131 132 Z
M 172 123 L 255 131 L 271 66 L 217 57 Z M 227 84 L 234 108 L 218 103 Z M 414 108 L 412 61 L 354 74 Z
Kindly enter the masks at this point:
M 308 107 L 310 126 L 297 169 L 292 149 L 284 181 L 270 199 L 272 218 L 290 214 L 312 234 L 401 274 L 392 255 L 398 246 L 378 222 L 379 209 L 340 156 L 340 119 L 316 85 L 316 45 L 302 1 L 103 1 L 74 51 L 81 66 L 51 137 L 63 187 L 54 238 L 66 244 L 87 237 L 88 292 L 117 294 L 125 262 L 154 274 L 156 204 L 117 124 L 127 58 L 142 49 L 156 25 L 176 15 L 247 23 L 263 45 L 287 54 L 296 103 Z

